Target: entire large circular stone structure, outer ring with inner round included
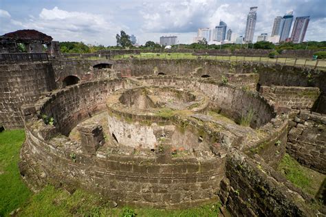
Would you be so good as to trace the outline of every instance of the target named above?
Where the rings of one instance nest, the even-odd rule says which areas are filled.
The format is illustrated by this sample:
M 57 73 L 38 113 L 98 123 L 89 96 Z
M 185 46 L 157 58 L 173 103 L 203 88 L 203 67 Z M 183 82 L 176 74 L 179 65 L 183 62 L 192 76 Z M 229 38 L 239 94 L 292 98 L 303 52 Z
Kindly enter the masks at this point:
M 82 187 L 118 204 L 209 203 L 217 200 L 232 149 L 264 143 L 280 153 L 273 160 L 285 151 L 274 141 L 287 123 L 272 106 L 214 79 L 88 81 L 55 90 L 23 107 L 23 115 L 20 170 L 30 185 Z M 54 125 L 42 117 L 54 118 Z

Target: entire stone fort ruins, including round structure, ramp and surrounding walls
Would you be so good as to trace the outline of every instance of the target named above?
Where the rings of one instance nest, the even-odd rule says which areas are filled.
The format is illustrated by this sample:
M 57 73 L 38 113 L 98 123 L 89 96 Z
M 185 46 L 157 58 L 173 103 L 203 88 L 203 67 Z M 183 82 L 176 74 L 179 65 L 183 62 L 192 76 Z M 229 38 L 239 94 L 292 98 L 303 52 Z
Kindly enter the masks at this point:
M 46 44 L 52 57 L 21 61 L 10 54 L 17 43 L 29 52 Z M 83 188 L 160 209 L 221 200 L 233 216 L 325 212 L 276 171 L 287 152 L 326 172 L 324 70 L 69 59 L 34 30 L 3 35 L 0 50 L 0 125 L 25 128 L 19 169 L 32 189 Z

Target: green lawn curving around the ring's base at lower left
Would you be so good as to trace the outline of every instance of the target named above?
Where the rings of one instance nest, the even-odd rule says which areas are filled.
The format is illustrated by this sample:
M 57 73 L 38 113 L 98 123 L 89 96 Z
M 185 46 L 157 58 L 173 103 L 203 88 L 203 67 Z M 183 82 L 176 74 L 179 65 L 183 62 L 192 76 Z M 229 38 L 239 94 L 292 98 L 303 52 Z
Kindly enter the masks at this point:
M 98 194 L 81 189 L 69 194 L 63 189 L 48 185 L 33 194 L 19 175 L 19 150 L 25 140 L 23 130 L 0 132 L 0 216 L 20 208 L 17 216 L 217 216 L 220 203 L 203 205 L 192 209 L 131 209 L 111 208 Z

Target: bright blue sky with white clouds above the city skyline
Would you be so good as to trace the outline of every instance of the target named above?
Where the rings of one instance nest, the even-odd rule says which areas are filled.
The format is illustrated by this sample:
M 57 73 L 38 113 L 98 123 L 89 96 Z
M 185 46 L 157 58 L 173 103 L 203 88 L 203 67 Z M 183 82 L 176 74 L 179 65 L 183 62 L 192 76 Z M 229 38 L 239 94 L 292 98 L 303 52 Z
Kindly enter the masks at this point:
M 0 0 L 0 35 L 34 29 L 54 41 L 107 46 L 124 30 L 139 44 L 170 35 L 192 43 L 198 28 L 213 28 L 220 19 L 243 34 L 252 6 L 258 6 L 254 41 L 270 35 L 274 18 L 291 10 L 294 19 L 310 16 L 305 41 L 326 41 L 326 0 Z

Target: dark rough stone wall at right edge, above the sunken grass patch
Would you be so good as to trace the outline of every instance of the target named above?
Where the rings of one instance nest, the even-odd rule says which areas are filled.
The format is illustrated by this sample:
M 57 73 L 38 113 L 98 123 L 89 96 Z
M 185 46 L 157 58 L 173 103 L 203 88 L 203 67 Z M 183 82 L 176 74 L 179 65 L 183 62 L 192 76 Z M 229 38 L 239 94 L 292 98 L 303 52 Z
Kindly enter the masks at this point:
M 290 126 L 287 153 L 299 163 L 326 174 L 326 115 L 301 110 Z

